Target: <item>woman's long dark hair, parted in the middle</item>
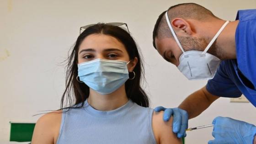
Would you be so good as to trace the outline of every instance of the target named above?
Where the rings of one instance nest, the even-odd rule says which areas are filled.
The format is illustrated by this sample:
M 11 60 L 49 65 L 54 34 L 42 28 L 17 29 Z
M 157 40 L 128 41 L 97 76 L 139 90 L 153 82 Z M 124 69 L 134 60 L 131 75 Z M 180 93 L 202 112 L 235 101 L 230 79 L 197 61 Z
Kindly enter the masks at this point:
M 133 37 L 131 37 L 131 35 L 121 27 L 98 23 L 86 28 L 85 31 L 82 32 L 77 38 L 74 48 L 70 49 L 70 51 L 72 51 L 69 53 L 66 66 L 66 88 L 61 98 L 60 109 L 67 107 L 68 103 L 69 108 L 72 105 L 79 103 L 82 103 L 80 105 L 80 107 L 82 107 L 84 105 L 84 101 L 89 97 L 89 87 L 85 83 L 78 82 L 76 77 L 78 75 L 77 60 L 79 46 L 85 37 L 91 34 L 105 34 L 115 37 L 125 46 L 130 60 L 133 60 L 135 57 L 137 57 L 138 63 L 133 69 L 136 76 L 133 80 L 127 80 L 125 82 L 125 90 L 128 98 L 133 102 L 142 107 L 149 107 L 149 98 L 140 86 L 141 77 L 144 78 L 144 69 L 143 64 L 141 63 L 141 58 L 139 56 L 138 47 L 133 40 Z M 64 101 L 66 102 L 65 105 Z

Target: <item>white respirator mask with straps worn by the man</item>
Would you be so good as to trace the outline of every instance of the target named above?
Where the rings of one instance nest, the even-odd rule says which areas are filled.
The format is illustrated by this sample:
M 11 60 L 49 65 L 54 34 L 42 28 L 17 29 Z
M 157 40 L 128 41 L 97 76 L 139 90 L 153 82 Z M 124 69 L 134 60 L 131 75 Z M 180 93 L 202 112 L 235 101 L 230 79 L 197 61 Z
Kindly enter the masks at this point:
M 182 54 L 180 56 L 180 64 L 178 65 L 178 69 L 181 71 L 183 75 L 187 77 L 188 80 L 209 80 L 213 79 L 219 64 L 220 59 L 215 57 L 214 55 L 207 53 L 208 49 L 212 46 L 213 42 L 217 39 L 219 34 L 223 31 L 229 21 L 226 21 L 224 25 L 219 29 L 216 35 L 213 37 L 211 42 L 205 48 L 204 51 L 190 50 L 185 52 L 179 42 L 173 28 L 171 27 L 171 23 L 168 18 L 168 11 L 165 13 L 165 18 L 167 24 L 171 30 L 173 37 L 175 38 L 176 43 L 181 48 Z

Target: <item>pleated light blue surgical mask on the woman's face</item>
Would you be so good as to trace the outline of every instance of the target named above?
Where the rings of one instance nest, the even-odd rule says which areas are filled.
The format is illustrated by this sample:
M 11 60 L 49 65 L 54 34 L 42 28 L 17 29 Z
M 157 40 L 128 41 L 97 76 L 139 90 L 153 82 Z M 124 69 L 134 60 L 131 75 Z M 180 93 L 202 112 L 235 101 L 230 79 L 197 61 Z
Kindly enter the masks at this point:
M 78 76 L 94 91 L 107 95 L 116 91 L 129 79 L 128 63 L 120 60 L 91 60 L 78 64 Z

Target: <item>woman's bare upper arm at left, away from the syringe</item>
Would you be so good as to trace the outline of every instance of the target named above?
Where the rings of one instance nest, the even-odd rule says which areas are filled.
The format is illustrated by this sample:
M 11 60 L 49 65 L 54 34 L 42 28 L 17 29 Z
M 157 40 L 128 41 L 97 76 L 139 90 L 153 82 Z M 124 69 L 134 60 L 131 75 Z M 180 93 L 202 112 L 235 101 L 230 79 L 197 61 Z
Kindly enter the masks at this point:
M 59 136 L 62 111 L 51 112 L 37 120 L 32 144 L 56 144 Z

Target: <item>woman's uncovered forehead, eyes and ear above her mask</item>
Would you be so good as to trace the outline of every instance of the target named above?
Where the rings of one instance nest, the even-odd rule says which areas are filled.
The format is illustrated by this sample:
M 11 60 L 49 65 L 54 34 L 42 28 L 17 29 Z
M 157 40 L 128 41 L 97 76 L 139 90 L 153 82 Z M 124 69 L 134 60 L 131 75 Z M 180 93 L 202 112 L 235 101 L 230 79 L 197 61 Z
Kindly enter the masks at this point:
M 110 59 L 130 61 L 123 43 L 115 37 L 105 34 L 91 34 L 82 41 L 78 50 L 78 64 L 94 59 Z M 137 64 L 137 58 L 128 64 L 128 71 L 132 72 Z

